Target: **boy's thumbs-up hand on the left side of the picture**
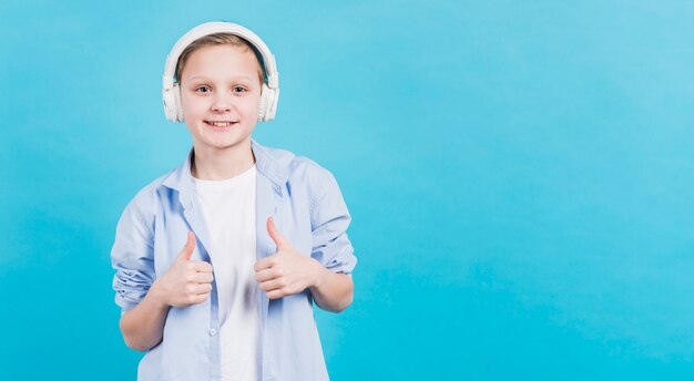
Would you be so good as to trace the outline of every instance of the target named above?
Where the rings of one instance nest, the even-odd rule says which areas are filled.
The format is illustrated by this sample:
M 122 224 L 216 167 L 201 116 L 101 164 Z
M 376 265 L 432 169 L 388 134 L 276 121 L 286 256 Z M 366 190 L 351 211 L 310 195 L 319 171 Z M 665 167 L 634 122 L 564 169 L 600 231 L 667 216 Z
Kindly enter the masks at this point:
M 212 291 L 212 265 L 206 261 L 191 260 L 195 249 L 195 235 L 188 231 L 188 239 L 171 268 L 159 278 L 152 289 L 166 306 L 184 308 L 202 303 Z

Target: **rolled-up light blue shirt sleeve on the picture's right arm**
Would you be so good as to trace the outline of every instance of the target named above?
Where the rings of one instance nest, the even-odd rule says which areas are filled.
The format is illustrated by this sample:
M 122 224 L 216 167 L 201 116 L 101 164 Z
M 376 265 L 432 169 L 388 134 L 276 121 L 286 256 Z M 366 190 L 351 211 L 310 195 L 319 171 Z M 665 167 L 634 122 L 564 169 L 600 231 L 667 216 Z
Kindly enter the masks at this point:
M 328 171 L 324 171 L 323 192 L 312 203 L 312 257 L 328 270 L 351 276 L 357 257 L 347 237 L 351 222 L 343 194 Z

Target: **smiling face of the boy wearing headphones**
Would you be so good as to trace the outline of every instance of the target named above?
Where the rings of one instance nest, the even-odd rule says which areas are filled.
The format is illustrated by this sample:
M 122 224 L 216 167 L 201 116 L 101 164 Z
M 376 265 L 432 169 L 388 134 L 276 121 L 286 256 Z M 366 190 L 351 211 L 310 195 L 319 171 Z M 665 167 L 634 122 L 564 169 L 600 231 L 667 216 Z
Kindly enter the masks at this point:
M 239 47 L 205 47 L 191 54 L 180 86 L 196 152 L 249 144 L 261 100 L 257 73 L 254 53 Z

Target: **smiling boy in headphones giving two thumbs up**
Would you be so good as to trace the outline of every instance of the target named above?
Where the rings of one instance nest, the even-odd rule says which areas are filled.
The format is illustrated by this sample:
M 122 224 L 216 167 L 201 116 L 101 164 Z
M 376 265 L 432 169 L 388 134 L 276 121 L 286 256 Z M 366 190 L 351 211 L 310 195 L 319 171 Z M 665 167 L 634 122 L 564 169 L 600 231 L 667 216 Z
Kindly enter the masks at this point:
M 313 301 L 351 303 L 350 222 L 333 175 L 252 140 L 274 117 L 275 60 L 249 30 L 198 25 L 167 56 L 164 109 L 187 159 L 119 220 L 113 288 L 139 380 L 327 380 Z

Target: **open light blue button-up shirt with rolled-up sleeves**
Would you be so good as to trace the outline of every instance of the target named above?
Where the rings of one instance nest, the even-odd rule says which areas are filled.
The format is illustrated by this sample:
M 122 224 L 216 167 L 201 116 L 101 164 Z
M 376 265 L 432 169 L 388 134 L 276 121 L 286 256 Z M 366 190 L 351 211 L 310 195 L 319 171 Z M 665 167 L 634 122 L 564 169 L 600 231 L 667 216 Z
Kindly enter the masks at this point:
M 357 264 L 347 238 L 350 216 L 335 177 L 315 162 L 252 141 L 256 159 L 257 259 L 277 251 L 265 223 L 327 269 L 351 276 Z M 193 203 L 191 157 L 144 187 L 125 207 L 111 251 L 115 302 L 127 311 L 166 272 L 192 230 L 193 260 L 211 262 L 208 231 Z M 211 262 L 214 268 L 214 262 Z M 216 285 L 206 302 L 171 307 L 162 342 L 145 353 L 137 379 L 218 380 L 220 315 Z M 261 309 L 262 380 L 328 380 L 309 289 L 269 300 L 257 291 Z

